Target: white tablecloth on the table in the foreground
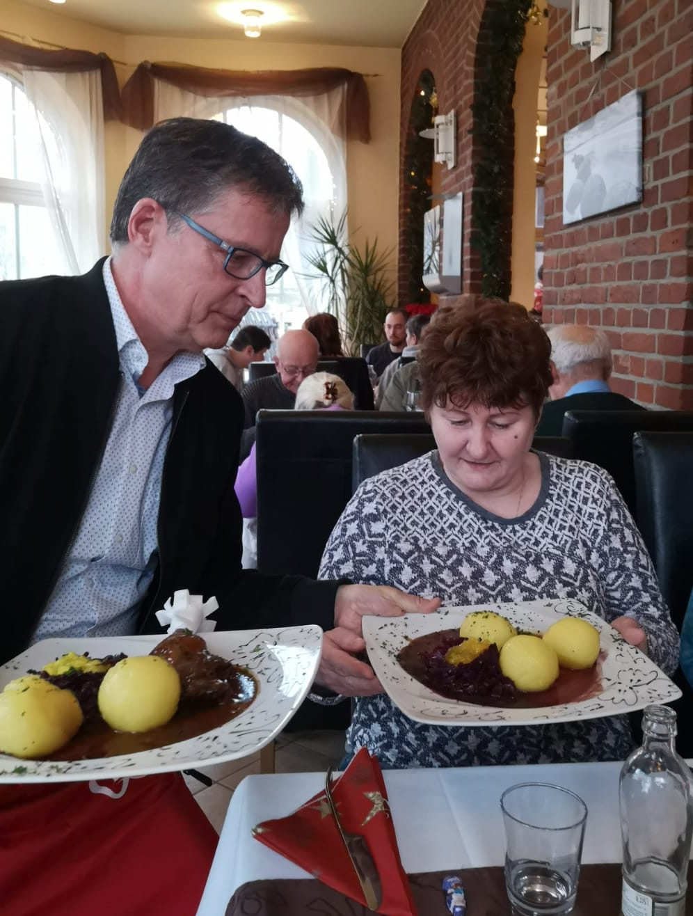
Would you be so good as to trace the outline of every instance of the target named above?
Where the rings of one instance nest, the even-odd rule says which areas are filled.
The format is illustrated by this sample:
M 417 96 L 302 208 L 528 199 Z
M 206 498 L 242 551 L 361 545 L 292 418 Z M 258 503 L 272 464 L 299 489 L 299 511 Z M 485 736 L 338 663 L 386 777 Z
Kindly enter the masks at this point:
M 578 793 L 588 818 L 582 862 L 621 862 L 621 763 L 384 770 L 407 872 L 503 865 L 500 798 L 518 782 L 551 782 Z M 310 878 L 251 836 L 256 823 L 295 811 L 324 773 L 248 776 L 233 793 L 198 916 L 223 916 L 233 891 L 262 878 Z

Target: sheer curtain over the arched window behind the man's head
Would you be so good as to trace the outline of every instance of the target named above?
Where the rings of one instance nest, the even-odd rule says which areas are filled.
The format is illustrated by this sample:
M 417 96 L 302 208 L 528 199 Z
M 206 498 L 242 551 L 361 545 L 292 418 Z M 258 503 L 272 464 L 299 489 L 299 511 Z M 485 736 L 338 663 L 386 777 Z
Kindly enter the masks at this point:
M 309 276 L 313 273 L 309 257 L 316 248 L 310 240 L 310 226 L 320 217 L 336 221 L 347 204 L 345 95 L 346 86 L 339 86 L 300 98 L 203 98 L 155 80 L 155 123 L 168 117 L 218 117 L 258 136 L 296 171 L 303 183 L 306 208 L 301 219 L 294 219 L 289 227 L 282 257 L 291 267 L 292 281 L 309 315 L 324 311 L 322 284 Z

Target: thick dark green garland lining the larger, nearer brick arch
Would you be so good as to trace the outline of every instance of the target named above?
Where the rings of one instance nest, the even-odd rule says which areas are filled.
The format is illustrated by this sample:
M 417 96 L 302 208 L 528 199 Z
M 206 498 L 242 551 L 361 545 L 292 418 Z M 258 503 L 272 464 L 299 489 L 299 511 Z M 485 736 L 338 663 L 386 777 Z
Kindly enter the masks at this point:
M 476 140 L 471 192 L 471 247 L 479 252 L 482 294 L 510 297 L 513 245 L 514 73 L 525 39 L 530 0 L 486 7 L 471 105 Z

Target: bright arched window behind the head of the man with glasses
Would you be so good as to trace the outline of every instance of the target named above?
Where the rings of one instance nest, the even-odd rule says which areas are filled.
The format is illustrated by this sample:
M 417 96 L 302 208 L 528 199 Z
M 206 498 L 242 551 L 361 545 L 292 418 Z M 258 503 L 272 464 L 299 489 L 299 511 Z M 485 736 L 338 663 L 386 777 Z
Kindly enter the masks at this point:
M 291 104 L 291 100 L 285 100 L 285 104 Z M 299 106 L 300 103 L 297 107 Z M 327 211 L 334 215 L 337 194 L 333 169 L 330 169 L 327 153 L 307 127 L 288 114 L 260 105 L 241 104 L 216 114 L 215 117 L 237 127 L 245 134 L 257 136 L 268 147 L 272 147 L 280 156 L 287 159 L 303 184 L 306 202 L 304 226 L 312 222 L 316 213 L 324 214 Z M 336 168 L 339 168 L 339 165 Z M 297 275 L 297 270 L 300 272 L 301 269 L 297 267 L 297 249 L 302 249 L 303 253 L 307 244 L 307 240 L 301 237 L 292 245 L 287 236 L 287 250 L 283 251 L 282 256 L 291 265 L 291 270 L 288 270 L 274 286 L 267 288 L 265 311 L 271 315 L 271 323 L 279 336 L 285 331 L 300 328 L 308 315 L 304 301 L 306 278 Z M 303 291 L 299 289 L 301 283 L 304 285 Z M 257 321 L 257 318 L 258 313 L 251 311 L 244 323 L 268 323 Z

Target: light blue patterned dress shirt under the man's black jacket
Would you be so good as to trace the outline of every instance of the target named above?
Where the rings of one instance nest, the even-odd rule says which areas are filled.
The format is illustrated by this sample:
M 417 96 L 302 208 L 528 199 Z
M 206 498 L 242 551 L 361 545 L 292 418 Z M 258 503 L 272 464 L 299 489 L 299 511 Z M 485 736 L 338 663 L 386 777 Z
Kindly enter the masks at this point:
M 179 353 L 146 390 L 137 379 L 148 357 L 118 295 L 111 259 L 103 282 L 120 356 L 114 420 L 89 503 L 34 641 L 48 637 L 124 636 L 157 565 L 161 476 L 173 417 L 173 390 L 205 365 Z M 85 415 L 84 422 L 90 417 Z

